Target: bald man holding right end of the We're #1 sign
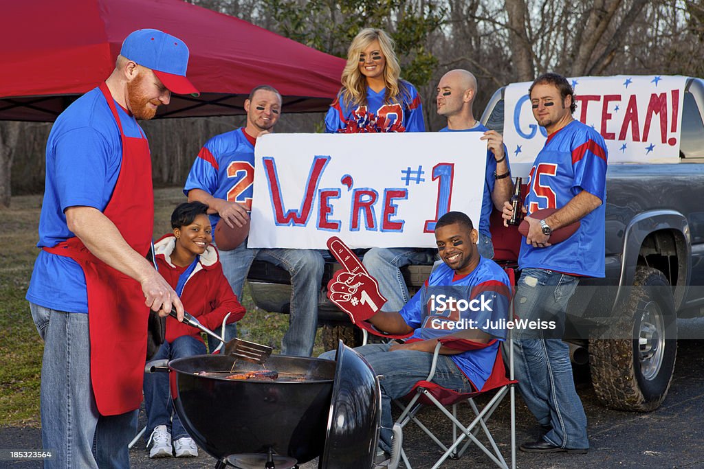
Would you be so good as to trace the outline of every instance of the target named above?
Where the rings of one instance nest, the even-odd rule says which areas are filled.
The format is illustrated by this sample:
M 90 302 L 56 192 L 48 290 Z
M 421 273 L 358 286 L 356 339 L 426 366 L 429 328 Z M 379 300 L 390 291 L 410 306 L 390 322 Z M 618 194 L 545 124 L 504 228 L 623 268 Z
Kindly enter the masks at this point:
M 494 245 L 489 232 L 489 215 L 492 205 L 503 210 L 513 191 L 511 171 L 506 159 L 503 136 L 489 130 L 474 119 L 472 105 L 477 96 L 477 79 L 467 70 L 451 70 L 440 79 L 437 86 L 437 113 L 447 118 L 447 127 L 441 132 L 484 132 L 486 155 L 468 155 L 477 159 L 486 156 L 486 177 L 482 212 L 479 216 L 479 242 L 477 249 L 482 257 L 494 258 Z M 364 256 L 364 265 L 379 282 L 379 290 L 387 298 L 382 311 L 400 311 L 408 302 L 408 288 L 401 275 L 401 267 L 408 264 L 432 264 L 435 251 L 418 248 L 372 248 Z

